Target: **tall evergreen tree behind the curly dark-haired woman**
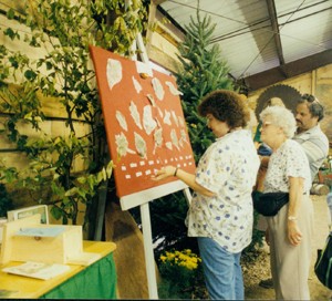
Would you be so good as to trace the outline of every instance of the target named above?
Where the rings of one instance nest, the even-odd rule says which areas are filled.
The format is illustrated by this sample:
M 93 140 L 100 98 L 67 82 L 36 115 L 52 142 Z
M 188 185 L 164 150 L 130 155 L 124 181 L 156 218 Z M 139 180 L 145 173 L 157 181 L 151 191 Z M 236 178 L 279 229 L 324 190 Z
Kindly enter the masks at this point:
M 188 124 L 188 132 L 196 162 L 215 137 L 206 127 L 206 122 L 197 115 L 199 101 L 208 93 L 218 90 L 234 90 L 234 82 L 228 75 L 229 69 L 221 59 L 218 44 L 212 43 L 216 24 L 211 19 L 201 20 L 197 11 L 197 20 L 190 17 L 191 22 L 185 28 L 187 35 L 179 46 L 177 65 L 177 84 L 183 95 L 183 108 Z

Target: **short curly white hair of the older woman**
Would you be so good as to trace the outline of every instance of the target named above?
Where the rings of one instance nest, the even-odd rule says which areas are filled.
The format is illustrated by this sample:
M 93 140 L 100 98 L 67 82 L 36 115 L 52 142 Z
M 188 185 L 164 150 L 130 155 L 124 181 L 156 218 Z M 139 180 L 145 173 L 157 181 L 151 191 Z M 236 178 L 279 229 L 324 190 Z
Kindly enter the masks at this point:
M 263 122 L 269 116 L 273 125 L 282 128 L 288 138 L 292 138 L 297 131 L 297 121 L 293 113 L 283 106 L 268 106 L 259 117 Z

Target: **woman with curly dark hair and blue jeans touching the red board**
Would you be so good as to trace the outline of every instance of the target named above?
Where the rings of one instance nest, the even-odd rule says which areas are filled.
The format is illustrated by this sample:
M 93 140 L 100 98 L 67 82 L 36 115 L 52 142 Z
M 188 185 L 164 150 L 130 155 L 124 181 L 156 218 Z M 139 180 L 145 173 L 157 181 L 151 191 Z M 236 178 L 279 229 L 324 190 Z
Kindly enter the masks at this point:
M 177 177 L 194 190 L 186 225 L 188 236 L 198 239 L 209 297 L 243 300 L 240 256 L 251 242 L 251 191 L 259 167 L 251 132 L 245 129 L 250 114 L 243 97 L 226 90 L 205 96 L 198 113 L 207 118 L 216 142 L 196 173 L 166 166 L 154 179 Z

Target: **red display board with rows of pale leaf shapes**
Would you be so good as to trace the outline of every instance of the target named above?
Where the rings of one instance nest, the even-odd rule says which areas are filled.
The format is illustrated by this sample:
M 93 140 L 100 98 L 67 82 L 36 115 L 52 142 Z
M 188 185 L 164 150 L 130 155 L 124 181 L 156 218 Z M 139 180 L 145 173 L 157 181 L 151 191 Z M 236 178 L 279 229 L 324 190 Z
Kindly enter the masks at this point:
M 175 79 L 142 62 L 90 46 L 117 196 L 176 181 L 152 180 L 163 166 L 194 173 L 195 160 Z

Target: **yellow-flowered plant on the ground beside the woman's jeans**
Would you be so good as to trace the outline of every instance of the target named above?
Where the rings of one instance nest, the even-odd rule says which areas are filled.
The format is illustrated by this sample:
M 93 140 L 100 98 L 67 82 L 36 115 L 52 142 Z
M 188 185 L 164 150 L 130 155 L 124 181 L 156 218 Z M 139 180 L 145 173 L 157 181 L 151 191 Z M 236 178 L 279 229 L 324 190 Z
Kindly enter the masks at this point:
M 197 291 L 204 282 L 201 259 L 191 250 L 166 251 L 159 257 L 162 299 L 204 299 L 206 292 Z

